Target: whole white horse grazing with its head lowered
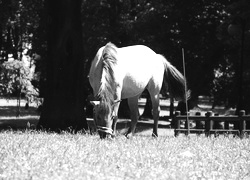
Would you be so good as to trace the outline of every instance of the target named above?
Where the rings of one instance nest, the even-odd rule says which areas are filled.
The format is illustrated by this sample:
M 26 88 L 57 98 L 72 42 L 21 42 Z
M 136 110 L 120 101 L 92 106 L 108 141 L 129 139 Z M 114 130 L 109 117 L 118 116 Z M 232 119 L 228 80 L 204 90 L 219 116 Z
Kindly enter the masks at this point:
M 153 108 L 153 133 L 158 136 L 159 94 L 164 84 L 171 97 L 185 100 L 186 80 L 163 55 L 144 45 L 118 48 L 112 43 L 101 47 L 93 59 L 89 82 L 96 100 L 91 101 L 93 119 L 100 138 L 115 136 L 118 109 L 128 99 L 131 125 L 126 136 L 135 134 L 138 99 L 147 89 Z

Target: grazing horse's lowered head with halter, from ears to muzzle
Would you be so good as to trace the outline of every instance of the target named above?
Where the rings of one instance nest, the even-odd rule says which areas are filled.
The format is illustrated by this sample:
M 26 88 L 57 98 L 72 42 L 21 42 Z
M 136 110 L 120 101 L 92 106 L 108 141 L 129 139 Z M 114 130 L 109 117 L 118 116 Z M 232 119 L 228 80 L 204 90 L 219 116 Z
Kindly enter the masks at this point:
M 94 106 L 93 108 L 93 118 L 96 129 L 100 135 L 100 138 L 106 138 L 113 135 L 113 121 L 116 116 L 114 112 L 114 106 L 120 102 L 116 100 L 113 104 L 107 104 L 103 101 L 90 101 Z

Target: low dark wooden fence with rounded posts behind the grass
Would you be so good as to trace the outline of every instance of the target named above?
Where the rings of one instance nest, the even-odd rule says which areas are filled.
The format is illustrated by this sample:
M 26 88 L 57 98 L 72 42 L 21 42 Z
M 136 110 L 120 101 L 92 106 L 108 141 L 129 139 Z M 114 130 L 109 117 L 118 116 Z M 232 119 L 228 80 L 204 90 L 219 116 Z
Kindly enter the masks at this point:
M 212 111 L 208 111 L 205 116 L 201 116 L 199 112 L 195 116 L 188 116 L 189 121 L 195 123 L 195 128 L 189 128 L 190 133 L 205 133 L 206 136 L 211 134 L 231 133 L 240 137 L 244 137 L 250 129 L 246 129 L 246 122 L 250 123 L 250 115 L 246 115 L 244 110 L 239 112 L 239 116 L 219 116 L 213 115 Z M 175 112 L 173 125 L 175 128 L 175 136 L 180 133 L 188 133 L 187 116 L 180 115 L 180 111 Z M 185 122 L 184 128 L 181 128 L 181 121 Z M 224 128 L 218 127 L 220 122 L 224 122 Z M 229 124 L 233 124 L 233 128 Z

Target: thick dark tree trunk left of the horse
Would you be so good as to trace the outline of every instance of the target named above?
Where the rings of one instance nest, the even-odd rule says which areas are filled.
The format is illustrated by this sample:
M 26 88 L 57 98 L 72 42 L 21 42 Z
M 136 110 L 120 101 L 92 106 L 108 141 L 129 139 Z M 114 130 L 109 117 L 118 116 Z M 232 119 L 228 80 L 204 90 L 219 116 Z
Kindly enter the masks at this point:
M 81 0 L 47 0 L 47 90 L 38 129 L 87 129 Z

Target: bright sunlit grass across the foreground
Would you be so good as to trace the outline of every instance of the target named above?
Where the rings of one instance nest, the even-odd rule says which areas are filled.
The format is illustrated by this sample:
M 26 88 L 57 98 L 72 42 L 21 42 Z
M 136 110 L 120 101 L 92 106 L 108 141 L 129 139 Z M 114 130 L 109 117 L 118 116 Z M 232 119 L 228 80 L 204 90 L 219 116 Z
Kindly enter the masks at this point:
M 247 179 L 250 139 L 0 133 L 0 179 Z

